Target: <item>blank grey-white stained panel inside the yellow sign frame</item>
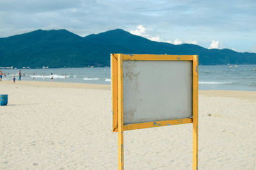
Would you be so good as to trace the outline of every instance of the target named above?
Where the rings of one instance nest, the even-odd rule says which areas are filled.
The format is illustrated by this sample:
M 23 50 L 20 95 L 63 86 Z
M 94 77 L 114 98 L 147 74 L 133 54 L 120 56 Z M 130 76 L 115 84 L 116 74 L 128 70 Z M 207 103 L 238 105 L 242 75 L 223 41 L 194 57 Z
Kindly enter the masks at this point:
M 192 61 L 123 60 L 124 124 L 193 117 Z

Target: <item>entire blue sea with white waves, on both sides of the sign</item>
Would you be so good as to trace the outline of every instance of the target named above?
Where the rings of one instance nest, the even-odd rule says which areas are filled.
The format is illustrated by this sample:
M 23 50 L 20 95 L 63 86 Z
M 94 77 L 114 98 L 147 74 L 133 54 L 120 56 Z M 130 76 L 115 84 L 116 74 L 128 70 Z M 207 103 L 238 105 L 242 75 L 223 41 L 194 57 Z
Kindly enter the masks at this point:
M 58 68 L 58 69 L 20 69 L 24 81 L 54 81 L 74 83 L 110 84 L 109 67 Z M 1 69 L 12 80 L 19 69 Z M 43 74 L 45 76 L 43 76 Z M 67 74 L 67 76 L 65 76 Z M 200 90 L 250 90 L 256 91 L 256 65 L 199 66 Z

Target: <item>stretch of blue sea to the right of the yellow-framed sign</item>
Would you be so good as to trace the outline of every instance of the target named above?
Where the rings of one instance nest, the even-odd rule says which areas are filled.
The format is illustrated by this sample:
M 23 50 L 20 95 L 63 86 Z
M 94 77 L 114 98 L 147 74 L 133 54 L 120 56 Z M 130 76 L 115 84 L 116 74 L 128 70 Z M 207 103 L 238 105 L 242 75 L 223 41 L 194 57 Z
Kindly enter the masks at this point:
M 256 91 L 256 65 L 199 66 L 200 90 Z

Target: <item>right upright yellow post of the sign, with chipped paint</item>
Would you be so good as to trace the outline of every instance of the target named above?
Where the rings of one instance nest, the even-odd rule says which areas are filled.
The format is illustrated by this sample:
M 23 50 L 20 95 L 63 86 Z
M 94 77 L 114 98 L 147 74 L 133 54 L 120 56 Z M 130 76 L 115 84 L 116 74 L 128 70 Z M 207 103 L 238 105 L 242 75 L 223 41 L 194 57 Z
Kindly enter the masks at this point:
M 193 55 L 193 170 L 198 169 L 198 55 Z

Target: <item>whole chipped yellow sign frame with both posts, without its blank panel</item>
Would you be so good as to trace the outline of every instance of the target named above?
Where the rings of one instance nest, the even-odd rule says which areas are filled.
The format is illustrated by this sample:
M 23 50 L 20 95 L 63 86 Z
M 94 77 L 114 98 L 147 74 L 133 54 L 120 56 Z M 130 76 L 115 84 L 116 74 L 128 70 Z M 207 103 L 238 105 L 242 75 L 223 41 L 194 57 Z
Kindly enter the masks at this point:
M 191 60 L 193 61 L 193 118 L 162 120 L 124 125 L 123 60 Z M 112 131 L 118 132 L 118 169 L 124 169 L 124 131 L 193 123 L 193 170 L 198 169 L 198 55 L 111 54 Z

